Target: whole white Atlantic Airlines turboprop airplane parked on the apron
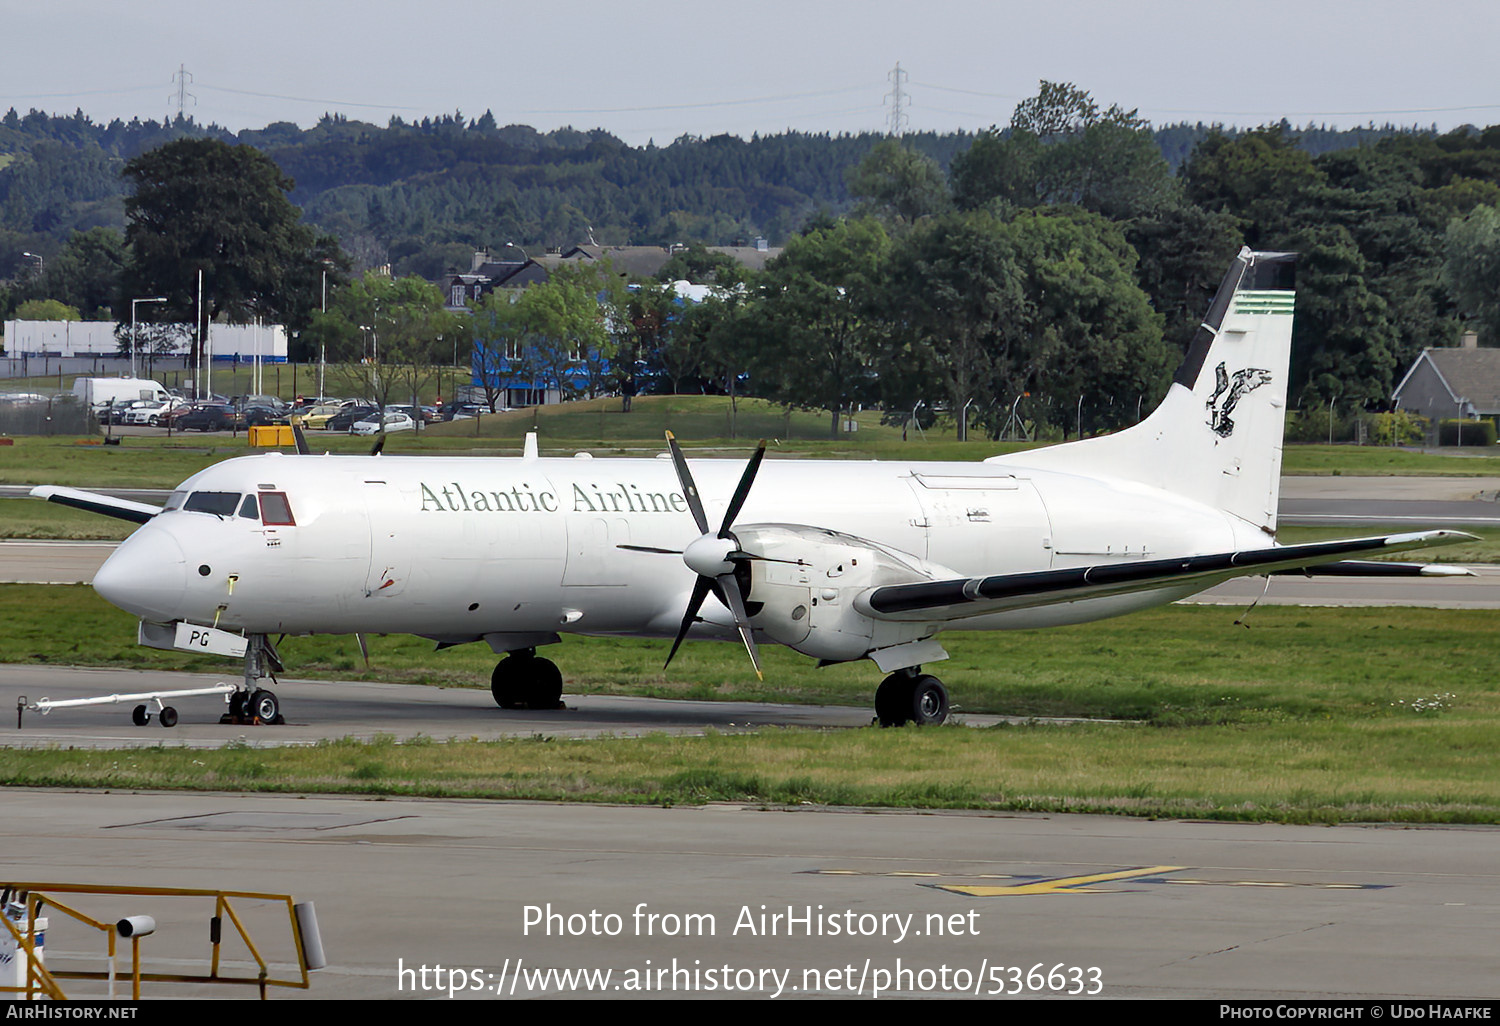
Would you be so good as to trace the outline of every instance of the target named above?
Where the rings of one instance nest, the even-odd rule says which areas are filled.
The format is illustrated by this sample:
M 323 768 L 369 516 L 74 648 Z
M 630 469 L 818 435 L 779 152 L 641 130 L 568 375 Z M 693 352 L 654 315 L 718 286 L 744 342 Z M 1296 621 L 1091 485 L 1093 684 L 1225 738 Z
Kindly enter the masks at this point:
M 230 459 L 165 508 L 34 495 L 136 520 L 94 578 L 142 644 L 244 654 L 231 716 L 274 722 L 268 634 L 488 642 L 501 706 L 555 708 L 562 633 L 740 638 L 868 658 L 884 724 L 940 723 L 942 630 L 1052 627 L 1244 574 L 1462 573 L 1346 556 L 1428 531 L 1278 546 L 1293 256 L 1240 250 L 1167 398 L 1101 438 L 982 464 L 279 454 Z M 298 446 L 306 450 L 306 446 Z M 717 526 L 716 526 L 717 524 Z M 712 596 L 712 602 L 710 602 Z M 363 638 L 362 638 L 363 642 Z M 228 644 L 228 646 L 225 646 Z M 138 714 L 140 722 L 140 714 Z

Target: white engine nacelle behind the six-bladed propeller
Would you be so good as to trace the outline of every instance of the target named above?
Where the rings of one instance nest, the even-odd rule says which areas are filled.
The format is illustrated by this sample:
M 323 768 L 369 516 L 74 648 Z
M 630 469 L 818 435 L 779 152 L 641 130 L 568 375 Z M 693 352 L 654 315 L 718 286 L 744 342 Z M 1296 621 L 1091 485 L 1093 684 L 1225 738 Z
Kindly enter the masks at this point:
M 855 609 L 855 597 L 882 585 L 960 578 L 946 567 L 852 534 L 795 524 L 735 526 L 748 561 L 750 624 L 804 656 L 843 663 L 879 650 L 932 638 L 936 622 L 874 620 Z M 932 652 L 939 652 L 933 656 Z M 932 645 L 921 658 L 940 658 Z M 884 660 L 876 662 L 885 669 Z

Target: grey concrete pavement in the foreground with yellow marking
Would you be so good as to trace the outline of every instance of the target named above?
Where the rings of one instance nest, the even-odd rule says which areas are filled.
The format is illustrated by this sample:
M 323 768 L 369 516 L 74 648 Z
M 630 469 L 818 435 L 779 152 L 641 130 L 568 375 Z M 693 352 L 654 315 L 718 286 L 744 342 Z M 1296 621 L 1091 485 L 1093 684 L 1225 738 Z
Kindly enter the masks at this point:
M 1054 970 L 1104 998 L 1500 996 L 1491 828 L 64 790 L 0 806 L 6 879 L 312 900 L 330 964 L 276 999 L 1000 999 L 1048 994 Z M 105 918 L 156 915 L 148 964 L 201 970 L 208 910 L 174 902 Z M 237 904 L 288 960 L 285 928 Z M 102 950 L 58 918 L 50 964 Z M 578 970 L 609 976 L 558 975 Z

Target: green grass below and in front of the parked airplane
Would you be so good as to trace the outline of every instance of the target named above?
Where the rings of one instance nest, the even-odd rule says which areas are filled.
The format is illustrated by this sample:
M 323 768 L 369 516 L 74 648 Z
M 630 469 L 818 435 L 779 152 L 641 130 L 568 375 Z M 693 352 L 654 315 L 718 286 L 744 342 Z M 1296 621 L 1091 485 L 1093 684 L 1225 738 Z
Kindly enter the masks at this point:
M 3 662 L 207 669 L 134 646 L 87 588 L 0 588 Z M 894 806 L 1278 822 L 1500 822 L 1500 690 L 1490 612 L 1167 608 L 1050 632 L 945 634 L 940 669 L 969 710 L 1114 717 L 974 730 L 766 730 L 704 738 L 446 744 L 338 741 L 219 752 L 0 750 L 12 786 L 182 788 L 552 801 Z M 68 639 L 87 638 L 87 642 Z M 302 676 L 482 681 L 478 646 L 288 639 Z M 758 686 L 732 645 L 570 639 L 572 692 L 867 705 L 868 666 L 782 650 Z M 344 663 L 350 663 L 345 666 Z M 228 669 L 230 666 L 225 664 Z

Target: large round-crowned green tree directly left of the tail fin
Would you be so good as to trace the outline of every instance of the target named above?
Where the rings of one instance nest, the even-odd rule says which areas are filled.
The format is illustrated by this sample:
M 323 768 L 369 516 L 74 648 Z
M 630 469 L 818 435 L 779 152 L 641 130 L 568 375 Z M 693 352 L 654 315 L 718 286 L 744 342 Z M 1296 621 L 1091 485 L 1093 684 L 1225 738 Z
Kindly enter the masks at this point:
M 994 430 L 1030 393 L 1034 418 L 1066 430 L 1082 396 L 1084 429 L 1116 426 L 1136 396 L 1160 394 L 1173 363 L 1134 262 L 1096 214 L 952 214 L 922 224 L 894 255 L 886 316 L 903 352 L 932 362 L 960 423 L 976 416 Z

